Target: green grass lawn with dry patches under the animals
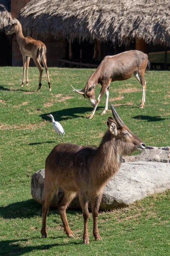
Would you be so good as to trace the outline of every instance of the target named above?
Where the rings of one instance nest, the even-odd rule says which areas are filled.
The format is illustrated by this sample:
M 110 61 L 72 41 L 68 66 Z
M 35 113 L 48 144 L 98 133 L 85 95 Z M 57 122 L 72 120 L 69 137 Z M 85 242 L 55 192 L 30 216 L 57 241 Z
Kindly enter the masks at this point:
M 100 115 L 105 106 L 103 97 L 93 119 L 87 119 L 90 102 L 70 87 L 83 88 L 92 69 L 50 68 L 52 92 L 48 91 L 44 73 L 39 92 L 37 68 L 29 69 L 29 86 L 20 87 L 21 67 L 0 67 L 0 255 L 33 256 L 167 256 L 170 250 L 170 192 L 153 195 L 131 207 L 99 215 L 103 241 L 92 237 L 92 216 L 89 219 L 90 245 L 82 244 L 81 211 L 68 210 L 68 222 L 75 239 L 63 233 L 57 210 L 48 214 L 48 239 L 40 238 L 41 206 L 31 198 L 31 176 L 44 168 L 45 159 L 55 140 L 50 118 L 59 121 L 65 130 L 65 142 L 99 145 L 106 131 L 111 110 Z M 142 88 L 132 77 L 110 86 L 110 102 L 125 124 L 146 145 L 170 146 L 170 74 L 150 72 L 146 103 L 139 109 Z M 100 86 L 96 88 L 96 97 Z

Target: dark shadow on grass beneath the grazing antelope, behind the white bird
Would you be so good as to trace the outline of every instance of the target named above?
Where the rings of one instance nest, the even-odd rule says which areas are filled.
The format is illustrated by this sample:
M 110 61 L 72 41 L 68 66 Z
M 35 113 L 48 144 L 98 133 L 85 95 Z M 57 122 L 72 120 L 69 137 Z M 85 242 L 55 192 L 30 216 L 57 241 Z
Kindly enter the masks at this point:
M 97 110 L 103 109 L 102 107 L 97 108 Z M 59 111 L 50 112 L 46 114 L 40 115 L 42 119 L 49 121 L 47 115 L 52 114 L 54 116 L 55 121 L 59 122 L 62 120 L 68 120 L 77 117 L 85 117 L 83 114 L 87 112 L 92 112 L 93 108 L 86 108 L 86 107 L 78 107 L 78 108 L 65 108 Z M 90 113 L 89 113 L 90 115 Z

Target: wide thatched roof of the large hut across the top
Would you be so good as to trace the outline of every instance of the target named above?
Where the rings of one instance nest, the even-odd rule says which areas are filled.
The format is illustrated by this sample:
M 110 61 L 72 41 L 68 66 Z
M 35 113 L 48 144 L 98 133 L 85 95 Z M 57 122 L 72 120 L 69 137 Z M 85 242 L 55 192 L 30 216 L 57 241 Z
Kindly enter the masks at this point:
M 170 46 L 170 0 L 31 0 L 19 19 L 27 34 L 44 39 L 115 44 L 137 37 Z

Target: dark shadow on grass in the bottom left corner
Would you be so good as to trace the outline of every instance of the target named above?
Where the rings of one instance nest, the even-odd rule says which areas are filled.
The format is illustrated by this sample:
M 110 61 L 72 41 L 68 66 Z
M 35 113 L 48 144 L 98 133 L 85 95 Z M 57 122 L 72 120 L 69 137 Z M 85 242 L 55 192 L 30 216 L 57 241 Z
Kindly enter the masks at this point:
M 63 234 L 63 238 L 64 238 L 64 234 Z M 61 236 L 56 236 L 54 239 L 57 238 L 62 238 Z M 38 238 L 38 237 L 37 237 Z M 37 246 L 30 246 L 30 245 L 26 245 L 26 246 L 21 246 L 20 243 L 21 242 L 30 242 L 34 239 L 37 238 L 33 238 L 33 239 L 15 239 L 15 240 L 5 240 L 5 241 L 0 241 L 0 251 L 1 253 L 3 252 L 3 256 L 7 256 L 7 255 L 13 255 L 13 256 L 19 256 L 19 255 L 24 255 L 26 253 L 31 253 L 33 250 L 48 250 L 51 247 L 57 247 L 57 246 L 64 246 L 67 244 L 79 244 L 79 242 L 75 241 L 74 239 L 71 239 L 69 242 L 66 243 L 55 243 L 55 244 L 45 244 L 45 245 L 37 245 Z M 57 240 L 56 240 L 57 241 Z

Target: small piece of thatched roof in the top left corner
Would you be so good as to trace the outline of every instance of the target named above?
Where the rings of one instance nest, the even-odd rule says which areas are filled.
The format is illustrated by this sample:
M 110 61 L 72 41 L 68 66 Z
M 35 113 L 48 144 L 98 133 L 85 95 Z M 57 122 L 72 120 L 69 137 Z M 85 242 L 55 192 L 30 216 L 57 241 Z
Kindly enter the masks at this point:
M 0 0 L 0 31 L 5 30 L 11 19 L 11 1 L 10 0 Z

